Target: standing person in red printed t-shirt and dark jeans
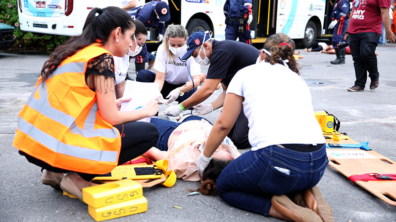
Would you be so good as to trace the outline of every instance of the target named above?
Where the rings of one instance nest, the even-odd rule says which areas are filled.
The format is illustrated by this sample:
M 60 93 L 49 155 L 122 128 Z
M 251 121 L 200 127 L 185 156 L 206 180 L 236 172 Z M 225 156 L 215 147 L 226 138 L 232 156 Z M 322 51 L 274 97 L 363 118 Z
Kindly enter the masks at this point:
M 349 42 L 356 80 L 355 84 L 347 90 L 363 91 L 367 81 L 367 71 L 371 78 L 370 90 L 375 90 L 380 76 L 375 49 L 382 33 L 382 22 L 384 22 L 387 39 L 392 43 L 396 39 L 395 34 L 392 33 L 389 18 L 391 0 L 353 0 L 352 6 L 344 39 Z

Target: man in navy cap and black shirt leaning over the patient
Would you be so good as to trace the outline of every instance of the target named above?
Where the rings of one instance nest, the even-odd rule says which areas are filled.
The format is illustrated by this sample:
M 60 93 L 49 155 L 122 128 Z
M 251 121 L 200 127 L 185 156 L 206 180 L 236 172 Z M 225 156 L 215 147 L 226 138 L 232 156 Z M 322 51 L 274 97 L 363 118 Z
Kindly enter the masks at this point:
M 204 115 L 222 107 L 231 79 L 242 68 L 255 64 L 260 54 L 253 46 L 240 41 L 212 39 L 208 31 L 193 33 L 187 39 L 187 47 L 182 60 L 193 56 L 202 66 L 210 64 L 206 80 L 190 98 L 179 105 L 168 107 L 166 115 L 177 116 L 191 107 L 194 107 L 194 114 Z M 223 88 L 220 96 L 212 103 L 202 103 L 212 95 L 220 82 Z M 247 139 L 248 129 L 247 118 L 242 110 L 228 135 L 237 148 L 251 147 Z

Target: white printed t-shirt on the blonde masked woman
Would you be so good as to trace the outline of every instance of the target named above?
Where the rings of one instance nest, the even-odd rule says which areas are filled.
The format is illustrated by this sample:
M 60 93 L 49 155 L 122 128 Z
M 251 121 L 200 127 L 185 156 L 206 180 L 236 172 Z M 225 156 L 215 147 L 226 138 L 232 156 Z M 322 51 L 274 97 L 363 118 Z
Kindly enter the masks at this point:
M 159 45 L 154 69 L 157 72 L 165 73 L 165 81 L 171 84 L 183 84 L 191 81 L 186 65 L 190 68 L 192 76 L 201 74 L 201 67 L 193 57 L 187 59 L 187 62 L 182 62 L 178 56 L 173 56 L 173 59 L 169 59 L 169 54 L 164 50 L 163 44 Z

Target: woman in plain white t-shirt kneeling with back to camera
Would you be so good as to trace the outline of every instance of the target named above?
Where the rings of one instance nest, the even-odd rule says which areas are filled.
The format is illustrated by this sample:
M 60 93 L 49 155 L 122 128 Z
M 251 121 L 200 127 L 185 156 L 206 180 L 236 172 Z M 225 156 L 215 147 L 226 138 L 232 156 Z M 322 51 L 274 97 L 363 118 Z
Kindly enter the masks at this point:
M 235 74 L 227 88 L 223 111 L 197 159 L 198 172 L 204 173 L 212 153 L 244 109 L 252 148 L 228 164 L 217 181 L 213 180 L 220 197 L 264 216 L 334 221 L 330 206 L 315 186 L 328 164 L 325 139 L 313 113 L 309 89 L 298 75 L 294 50 L 290 37 L 272 35 L 258 63 Z M 285 194 L 295 194 L 301 206 Z

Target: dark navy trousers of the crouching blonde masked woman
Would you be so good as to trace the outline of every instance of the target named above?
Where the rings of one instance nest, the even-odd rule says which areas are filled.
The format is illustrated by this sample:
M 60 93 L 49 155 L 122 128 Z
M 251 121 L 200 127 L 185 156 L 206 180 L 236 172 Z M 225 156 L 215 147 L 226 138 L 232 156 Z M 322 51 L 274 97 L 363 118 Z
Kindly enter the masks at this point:
M 154 80 L 155 80 L 155 73 L 148 71 L 148 70 L 141 70 L 141 71 L 139 71 L 138 75 L 136 76 L 136 81 L 138 81 L 138 82 L 154 82 Z M 185 84 L 186 83 L 171 84 L 171 83 L 168 83 L 167 81 L 164 81 L 164 85 L 162 86 L 162 90 L 161 90 L 162 97 L 165 99 L 169 95 L 170 91 L 172 91 L 178 87 L 184 86 Z M 197 87 L 197 86 L 198 85 L 196 85 L 195 87 Z M 181 103 L 181 102 L 187 100 L 191 95 L 193 95 L 193 93 L 195 91 L 196 90 L 192 89 L 188 92 L 184 92 L 184 95 L 179 96 L 176 99 L 176 101 Z

